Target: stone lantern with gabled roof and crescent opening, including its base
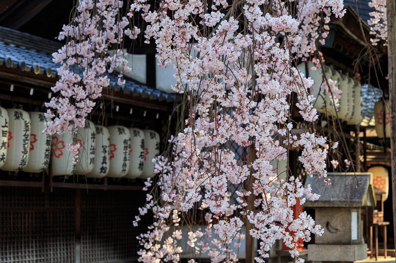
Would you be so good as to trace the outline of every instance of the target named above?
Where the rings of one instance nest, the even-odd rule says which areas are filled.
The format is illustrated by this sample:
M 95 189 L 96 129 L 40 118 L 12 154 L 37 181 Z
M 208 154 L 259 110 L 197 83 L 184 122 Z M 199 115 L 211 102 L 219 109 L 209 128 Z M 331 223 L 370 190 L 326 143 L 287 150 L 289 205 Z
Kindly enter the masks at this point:
M 308 245 L 308 261 L 353 262 L 367 259 L 367 244 L 362 234 L 361 208 L 375 206 L 371 173 L 328 173 L 331 185 L 323 178 L 308 177 L 305 186 L 320 195 L 304 206 L 315 209 L 315 222 L 325 230 Z

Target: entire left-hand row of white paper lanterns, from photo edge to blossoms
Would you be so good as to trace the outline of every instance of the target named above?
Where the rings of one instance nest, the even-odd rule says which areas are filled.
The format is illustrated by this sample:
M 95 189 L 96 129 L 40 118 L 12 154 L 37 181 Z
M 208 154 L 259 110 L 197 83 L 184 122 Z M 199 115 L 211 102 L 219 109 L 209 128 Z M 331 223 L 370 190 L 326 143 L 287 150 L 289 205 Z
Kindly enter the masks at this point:
M 78 128 L 78 162 L 66 149 L 73 143 L 69 133 L 47 135 L 44 113 L 0 107 L 0 169 L 38 173 L 51 162 L 53 176 L 149 178 L 154 176 L 152 159 L 159 154 L 159 134 L 123 126 L 94 125 Z M 48 171 L 49 172 L 49 171 Z

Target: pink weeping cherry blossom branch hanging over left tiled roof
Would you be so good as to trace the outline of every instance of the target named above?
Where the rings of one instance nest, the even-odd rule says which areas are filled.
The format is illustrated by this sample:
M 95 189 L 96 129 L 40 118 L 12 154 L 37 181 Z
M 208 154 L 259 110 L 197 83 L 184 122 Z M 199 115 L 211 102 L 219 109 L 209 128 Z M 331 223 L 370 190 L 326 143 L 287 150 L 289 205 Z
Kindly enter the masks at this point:
M 46 103 L 49 108 L 46 117 L 52 120 L 46 123 L 44 133 L 76 133 L 77 127 L 84 127 L 102 89 L 109 85 L 107 74 L 116 67 L 130 70 L 121 50 L 113 56 L 107 54 L 110 46 L 120 46 L 124 32 L 130 38 L 140 33 L 137 28 L 125 29 L 129 21 L 119 16 L 122 4 L 119 0 L 78 1 L 75 17 L 63 26 L 58 37 L 59 40 L 66 38 L 67 43 L 52 54 L 53 61 L 60 63 L 59 80 L 52 87 L 59 95 Z M 118 83 L 123 81 L 120 79 Z M 77 161 L 77 144 L 67 149 L 73 154 L 74 162 Z

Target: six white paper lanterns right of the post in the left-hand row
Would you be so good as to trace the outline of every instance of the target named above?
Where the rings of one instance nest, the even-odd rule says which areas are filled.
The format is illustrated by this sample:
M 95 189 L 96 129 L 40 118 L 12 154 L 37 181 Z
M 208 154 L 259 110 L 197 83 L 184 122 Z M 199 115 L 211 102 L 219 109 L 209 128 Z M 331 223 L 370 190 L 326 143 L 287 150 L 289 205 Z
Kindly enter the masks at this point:
M 150 178 L 154 176 L 152 159 L 159 154 L 159 134 L 152 130 L 124 126 L 94 125 L 77 129 L 80 143 L 78 163 L 66 150 L 70 134 L 52 136 L 51 172 L 58 175 L 85 175 L 88 178 Z

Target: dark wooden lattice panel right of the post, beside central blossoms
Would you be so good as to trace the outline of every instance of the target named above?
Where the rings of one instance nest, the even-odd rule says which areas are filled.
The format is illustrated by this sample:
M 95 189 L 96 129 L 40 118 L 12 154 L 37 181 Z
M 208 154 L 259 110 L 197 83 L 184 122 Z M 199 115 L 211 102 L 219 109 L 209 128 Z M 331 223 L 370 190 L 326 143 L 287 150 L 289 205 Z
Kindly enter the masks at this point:
M 82 195 L 81 262 L 113 262 L 137 259 L 136 236 L 148 220 L 132 225 L 138 207 L 145 203 L 142 191 L 90 190 Z M 146 222 L 146 225 L 143 224 Z

